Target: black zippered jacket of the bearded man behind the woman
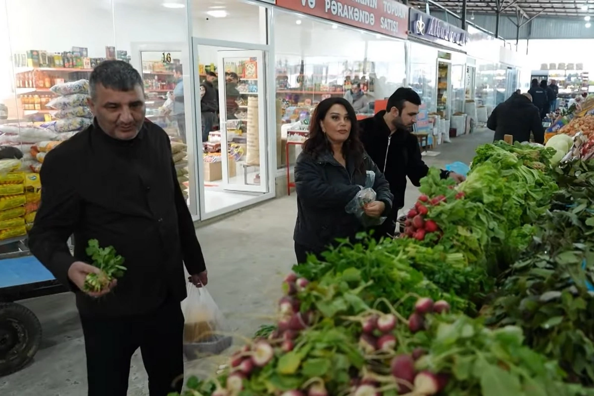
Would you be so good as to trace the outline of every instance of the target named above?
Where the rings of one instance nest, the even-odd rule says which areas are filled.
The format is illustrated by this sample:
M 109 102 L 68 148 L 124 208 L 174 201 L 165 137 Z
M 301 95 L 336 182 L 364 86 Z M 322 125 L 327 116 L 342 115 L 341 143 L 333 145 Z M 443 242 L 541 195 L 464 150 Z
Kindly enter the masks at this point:
M 419 186 L 421 179 L 427 176 L 429 167 L 422 160 L 415 135 L 405 129 L 397 129 L 390 135 L 390 128 L 384 121 L 385 114 L 386 110 L 382 110 L 360 121 L 359 133 L 365 151 L 390 183 L 390 191 L 394 195 L 392 218 L 395 219 L 397 211 L 405 205 L 406 177 L 413 185 Z M 446 177 L 447 172 L 441 171 L 441 178 Z

